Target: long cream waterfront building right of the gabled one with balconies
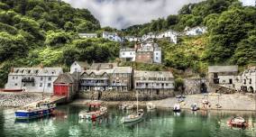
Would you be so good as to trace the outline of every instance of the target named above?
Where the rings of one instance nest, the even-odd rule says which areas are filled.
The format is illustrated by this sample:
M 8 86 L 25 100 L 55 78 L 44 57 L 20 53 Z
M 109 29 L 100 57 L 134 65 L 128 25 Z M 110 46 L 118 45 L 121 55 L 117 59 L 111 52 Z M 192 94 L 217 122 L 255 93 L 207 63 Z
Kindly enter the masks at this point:
M 157 95 L 174 90 L 174 77 L 169 71 L 134 70 L 133 86 L 141 92 L 153 92 Z

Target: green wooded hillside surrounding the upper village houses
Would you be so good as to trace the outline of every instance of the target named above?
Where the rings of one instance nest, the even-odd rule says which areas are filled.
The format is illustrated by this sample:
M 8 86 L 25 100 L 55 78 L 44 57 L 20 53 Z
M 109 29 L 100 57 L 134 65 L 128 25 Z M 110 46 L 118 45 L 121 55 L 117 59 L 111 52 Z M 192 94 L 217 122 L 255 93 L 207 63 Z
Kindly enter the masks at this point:
M 256 60 L 256 8 L 238 0 L 206 0 L 185 5 L 177 15 L 131 26 L 121 35 L 142 36 L 186 26 L 205 25 L 208 32 L 182 37 L 178 44 L 157 40 L 163 50 L 162 65 L 123 63 L 145 70 L 187 70 L 204 76 L 208 65 L 246 66 Z M 78 39 L 78 32 L 116 31 L 101 28 L 87 9 L 59 0 L 0 0 L 0 87 L 11 67 L 59 66 L 69 70 L 74 60 L 107 62 L 118 58 L 120 43 Z M 125 42 L 123 45 L 133 46 Z M 178 73 L 177 73 L 178 74 Z M 181 74 L 181 73 L 179 73 Z

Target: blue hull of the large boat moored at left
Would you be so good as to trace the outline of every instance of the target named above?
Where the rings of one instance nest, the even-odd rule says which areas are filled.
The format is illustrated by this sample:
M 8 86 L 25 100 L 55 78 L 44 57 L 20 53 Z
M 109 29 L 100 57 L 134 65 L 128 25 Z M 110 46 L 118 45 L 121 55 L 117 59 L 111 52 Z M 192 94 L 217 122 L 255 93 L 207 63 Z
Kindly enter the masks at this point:
M 32 119 L 32 118 L 39 118 L 46 115 L 50 115 L 55 110 L 55 107 L 43 110 L 36 110 L 36 111 L 16 111 L 15 117 L 17 119 Z

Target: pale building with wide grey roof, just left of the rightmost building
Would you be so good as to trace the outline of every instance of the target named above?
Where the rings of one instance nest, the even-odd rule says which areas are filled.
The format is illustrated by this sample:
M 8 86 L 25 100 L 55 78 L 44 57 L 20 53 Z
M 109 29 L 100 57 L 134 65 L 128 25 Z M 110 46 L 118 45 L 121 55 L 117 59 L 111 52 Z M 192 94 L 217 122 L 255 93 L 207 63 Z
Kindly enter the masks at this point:
M 240 90 L 241 77 L 238 75 L 238 66 L 209 66 L 208 80 L 210 84 Z

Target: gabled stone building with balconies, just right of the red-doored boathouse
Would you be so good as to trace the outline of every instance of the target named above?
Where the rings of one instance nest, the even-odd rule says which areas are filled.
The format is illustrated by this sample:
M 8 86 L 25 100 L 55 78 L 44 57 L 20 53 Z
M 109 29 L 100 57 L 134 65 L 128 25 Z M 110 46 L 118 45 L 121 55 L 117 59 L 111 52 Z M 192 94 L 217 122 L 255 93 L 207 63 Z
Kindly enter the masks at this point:
M 82 73 L 80 88 L 83 91 L 116 90 L 129 91 L 132 89 L 133 68 L 117 67 L 110 63 L 95 63 Z

